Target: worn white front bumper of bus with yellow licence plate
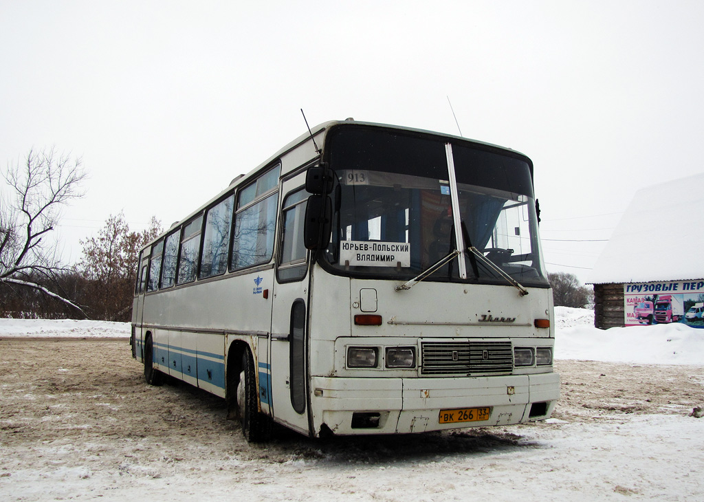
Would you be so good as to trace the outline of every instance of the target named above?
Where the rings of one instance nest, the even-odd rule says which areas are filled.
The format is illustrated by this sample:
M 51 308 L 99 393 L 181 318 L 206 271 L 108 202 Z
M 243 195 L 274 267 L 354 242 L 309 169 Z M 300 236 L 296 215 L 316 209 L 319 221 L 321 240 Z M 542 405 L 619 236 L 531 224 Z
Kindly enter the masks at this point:
M 560 375 L 555 372 L 460 378 L 313 377 L 312 383 L 316 436 L 327 429 L 342 435 L 407 434 L 512 425 L 548 418 L 560 397 Z M 443 423 L 448 416 L 453 421 Z M 474 420 L 455 421 L 467 418 Z

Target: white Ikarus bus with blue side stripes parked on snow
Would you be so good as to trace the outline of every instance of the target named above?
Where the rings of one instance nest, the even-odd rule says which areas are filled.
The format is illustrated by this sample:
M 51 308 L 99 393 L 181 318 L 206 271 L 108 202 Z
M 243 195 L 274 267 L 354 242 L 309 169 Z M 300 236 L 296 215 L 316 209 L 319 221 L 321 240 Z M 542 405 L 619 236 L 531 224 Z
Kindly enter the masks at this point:
M 529 158 L 329 122 L 142 249 L 132 354 L 309 437 L 551 415 L 552 291 Z

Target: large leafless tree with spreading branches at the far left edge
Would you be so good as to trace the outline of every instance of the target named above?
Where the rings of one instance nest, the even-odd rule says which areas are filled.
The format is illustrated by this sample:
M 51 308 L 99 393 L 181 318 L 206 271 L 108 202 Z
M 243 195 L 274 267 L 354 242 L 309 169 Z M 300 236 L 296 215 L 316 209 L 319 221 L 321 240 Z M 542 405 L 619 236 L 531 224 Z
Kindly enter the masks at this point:
M 47 237 L 58 224 L 61 208 L 84 195 L 80 185 L 87 173 L 81 159 L 72 160 L 53 148 L 32 149 L 2 175 L 7 184 L 0 196 L 0 283 L 42 291 L 83 312 L 36 279 L 66 270 L 59 263 L 56 243 Z

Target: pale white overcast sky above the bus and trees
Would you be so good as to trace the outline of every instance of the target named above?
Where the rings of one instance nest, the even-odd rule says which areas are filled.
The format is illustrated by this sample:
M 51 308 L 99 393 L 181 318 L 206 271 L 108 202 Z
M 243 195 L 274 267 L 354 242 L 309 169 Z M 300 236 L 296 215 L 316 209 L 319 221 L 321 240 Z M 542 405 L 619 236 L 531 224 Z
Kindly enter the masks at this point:
M 548 271 L 584 282 L 637 189 L 704 172 L 703 26 L 677 0 L 0 0 L 0 162 L 82 157 L 77 261 L 108 215 L 183 218 L 300 108 L 458 134 L 449 96 L 465 137 L 532 158 Z

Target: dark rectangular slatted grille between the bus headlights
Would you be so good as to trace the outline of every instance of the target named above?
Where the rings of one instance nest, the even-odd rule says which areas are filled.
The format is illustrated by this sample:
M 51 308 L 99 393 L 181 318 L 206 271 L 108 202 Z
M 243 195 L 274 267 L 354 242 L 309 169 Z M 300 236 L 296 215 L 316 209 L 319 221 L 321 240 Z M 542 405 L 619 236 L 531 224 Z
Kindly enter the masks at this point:
M 482 375 L 510 373 L 510 341 L 422 342 L 422 375 Z

